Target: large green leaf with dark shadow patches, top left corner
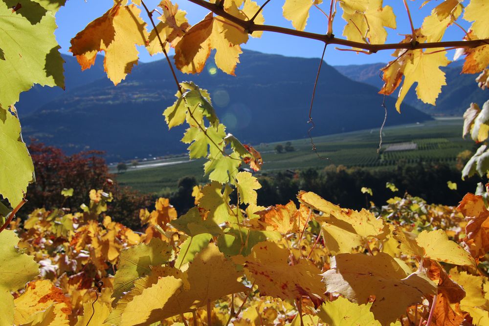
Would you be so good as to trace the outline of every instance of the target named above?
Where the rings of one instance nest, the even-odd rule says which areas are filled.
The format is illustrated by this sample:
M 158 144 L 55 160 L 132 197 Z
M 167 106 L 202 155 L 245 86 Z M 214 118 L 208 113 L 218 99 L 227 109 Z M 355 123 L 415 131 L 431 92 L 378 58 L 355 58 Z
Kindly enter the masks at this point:
M 57 27 L 55 12 L 46 9 L 54 9 L 56 5 L 48 5 L 46 0 L 39 3 L 31 0 L 15 2 L 22 7 L 13 11 L 6 1 L 0 1 L 0 44 L 3 52 L 3 60 L 0 60 L 0 106 L 3 108 L 14 105 L 19 101 L 19 94 L 33 84 L 65 87 L 64 61 L 54 37 Z

